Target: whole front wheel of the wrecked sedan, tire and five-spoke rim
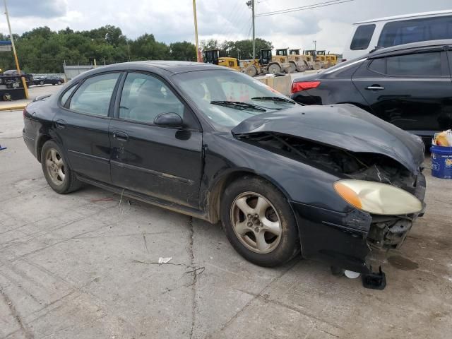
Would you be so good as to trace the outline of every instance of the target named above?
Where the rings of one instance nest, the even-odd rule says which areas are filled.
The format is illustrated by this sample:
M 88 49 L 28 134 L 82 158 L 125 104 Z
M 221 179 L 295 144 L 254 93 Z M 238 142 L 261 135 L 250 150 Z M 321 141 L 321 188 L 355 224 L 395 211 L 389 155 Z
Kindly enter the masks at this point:
M 299 252 L 297 223 L 289 203 L 264 179 L 245 176 L 232 182 L 223 194 L 220 213 L 227 239 L 251 263 L 278 266 Z

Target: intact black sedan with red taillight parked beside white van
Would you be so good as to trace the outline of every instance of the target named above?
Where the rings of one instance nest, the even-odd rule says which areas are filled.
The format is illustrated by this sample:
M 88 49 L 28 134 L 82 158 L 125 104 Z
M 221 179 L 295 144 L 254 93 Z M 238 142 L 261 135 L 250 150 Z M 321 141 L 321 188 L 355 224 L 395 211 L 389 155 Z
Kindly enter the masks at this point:
M 297 78 L 292 99 L 307 105 L 352 103 L 429 145 L 452 128 L 452 40 L 377 49 L 322 73 Z

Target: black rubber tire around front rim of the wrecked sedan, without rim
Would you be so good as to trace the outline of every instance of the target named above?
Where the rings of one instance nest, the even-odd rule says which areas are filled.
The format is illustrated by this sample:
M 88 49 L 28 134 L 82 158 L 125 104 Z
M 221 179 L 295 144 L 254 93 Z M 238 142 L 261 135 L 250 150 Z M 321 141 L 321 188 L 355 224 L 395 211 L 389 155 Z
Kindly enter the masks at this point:
M 256 251 L 249 249 L 239 239 L 239 235 L 236 234 L 234 225 L 232 225 L 236 198 L 249 192 L 254 192 L 270 202 L 272 206 L 265 213 L 272 210 L 275 212 L 273 215 L 277 215 L 277 218 L 279 216 L 280 239 L 275 248 L 268 253 L 256 253 Z M 234 249 L 246 260 L 251 261 L 251 263 L 265 267 L 278 266 L 289 261 L 299 253 L 300 246 L 297 223 L 292 209 L 280 190 L 262 178 L 251 175 L 245 176 L 227 186 L 222 196 L 220 214 L 227 239 L 229 239 Z M 242 215 L 242 218 L 246 218 L 246 215 Z M 254 228 L 254 226 L 251 228 Z M 252 233 L 250 232 L 249 234 L 252 237 Z

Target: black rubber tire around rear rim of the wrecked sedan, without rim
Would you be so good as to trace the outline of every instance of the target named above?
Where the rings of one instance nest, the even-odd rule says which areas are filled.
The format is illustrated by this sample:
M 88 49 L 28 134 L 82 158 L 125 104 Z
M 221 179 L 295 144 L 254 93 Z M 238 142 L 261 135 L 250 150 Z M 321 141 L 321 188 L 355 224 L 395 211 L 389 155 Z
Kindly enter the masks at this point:
M 55 150 L 57 152 L 57 156 L 59 156 L 59 159 L 61 159 L 63 163 L 62 171 L 64 172 L 64 180 L 61 182 L 61 184 L 55 184 L 52 181 L 52 177 L 50 176 L 49 170 L 47 169 L 47 154 L 49 152 L 52 153 L 52 150 Z M 42 146 L 41 167 L 42 172 L 44 172 L 44 177 L 47 180 L 47 184 L 49 184 L 49 186 L 59 194 L 66 194 L 76 191 L 82 185 L 82 183 L 76 178 L 76 175 L 72 172 L 69 165 L 67 165 L 63 153 L 61 152 L 61 148 L 52 140 L 46 141 L 46 143 L 44 143 L 44 145 Z

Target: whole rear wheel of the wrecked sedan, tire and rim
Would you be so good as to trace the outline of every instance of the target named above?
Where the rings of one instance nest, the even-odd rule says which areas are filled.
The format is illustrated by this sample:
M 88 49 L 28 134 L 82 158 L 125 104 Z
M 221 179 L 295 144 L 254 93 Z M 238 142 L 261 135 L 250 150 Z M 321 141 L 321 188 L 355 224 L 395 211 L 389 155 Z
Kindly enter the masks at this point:
M 57 193 L 66 194 L 81 187 L 81 182 L 67 165 L 61 148 L 52 140 L 42 146 L 41 167 L 47 183 Z

